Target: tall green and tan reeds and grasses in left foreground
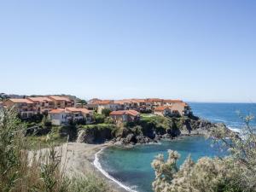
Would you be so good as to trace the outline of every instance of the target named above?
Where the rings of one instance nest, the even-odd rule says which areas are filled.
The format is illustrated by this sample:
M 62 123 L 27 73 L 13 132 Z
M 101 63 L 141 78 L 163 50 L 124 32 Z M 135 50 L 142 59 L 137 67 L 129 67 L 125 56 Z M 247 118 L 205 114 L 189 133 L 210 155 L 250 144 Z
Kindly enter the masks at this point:
M 107 185 L 90 173 L 84 177 L 67 177 L 61 151 L 47 137 L 49 149 L 28 151 L 26 126 L 12 109 L 0 111 L 0 191 L 12 192 L 101 192 Z

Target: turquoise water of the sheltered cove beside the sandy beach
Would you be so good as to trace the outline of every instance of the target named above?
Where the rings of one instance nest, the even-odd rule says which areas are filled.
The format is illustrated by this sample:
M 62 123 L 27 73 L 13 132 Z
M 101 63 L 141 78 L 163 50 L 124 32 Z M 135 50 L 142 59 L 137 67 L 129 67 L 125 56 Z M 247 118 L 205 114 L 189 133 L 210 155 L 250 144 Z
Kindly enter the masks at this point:
M 191 154 L 193 160 L 202 156 L 223 155 L 211 147 L 211 141 L 204 137 L 184 137 L 180 140 L 162 141 L 161 144 L 137 145 L 134 148 L 107 148 L 100 154 L 102 168 L 119 182 L 137 191 L 152 191 L 154 171 L 150 164 L 157 154 L 165 154 L 168 149 L 181 154 L 180 165 Z

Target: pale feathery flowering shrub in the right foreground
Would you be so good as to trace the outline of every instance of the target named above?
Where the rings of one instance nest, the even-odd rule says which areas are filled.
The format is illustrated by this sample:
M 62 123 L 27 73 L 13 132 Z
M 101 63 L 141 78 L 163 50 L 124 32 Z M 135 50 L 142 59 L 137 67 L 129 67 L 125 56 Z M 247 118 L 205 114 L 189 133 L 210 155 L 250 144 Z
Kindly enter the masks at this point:
M 251 119 L 252 116 L 244 119 L 246 126 L 241 137 L 222 126 L 212 130 L 210 136 L 221 148 L 229 150 L 225 158 L 203 157 L 194 162 L 188 157 L 177 169 L 177 152 L 168 151 L 166 161 L 162 154 L 158 155 L 152 162 L 154 191 L 256 191 L 256 133 L 249 125 Z

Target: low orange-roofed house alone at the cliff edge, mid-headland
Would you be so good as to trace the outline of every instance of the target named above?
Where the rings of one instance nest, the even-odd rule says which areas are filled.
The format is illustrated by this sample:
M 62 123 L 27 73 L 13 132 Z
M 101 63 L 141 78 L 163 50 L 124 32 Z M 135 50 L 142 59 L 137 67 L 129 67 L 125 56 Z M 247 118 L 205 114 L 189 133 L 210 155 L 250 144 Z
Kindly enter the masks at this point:
M 109 114 L 114 123 L 134 122 L 140 119 L 140 113 L 135 110 L 113 111 Z

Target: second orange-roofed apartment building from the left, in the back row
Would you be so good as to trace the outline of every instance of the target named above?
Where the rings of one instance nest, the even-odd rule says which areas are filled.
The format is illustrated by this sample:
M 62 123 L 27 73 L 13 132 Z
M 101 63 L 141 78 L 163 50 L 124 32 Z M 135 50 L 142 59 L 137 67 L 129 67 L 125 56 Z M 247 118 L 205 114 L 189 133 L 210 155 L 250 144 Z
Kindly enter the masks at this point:
M 55 102 L 47 96 L 27 97 L 27 99 L 34 103 L 37 113 L 48 113 L 55 108 Z

